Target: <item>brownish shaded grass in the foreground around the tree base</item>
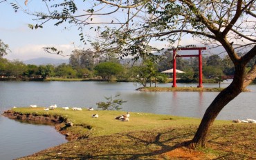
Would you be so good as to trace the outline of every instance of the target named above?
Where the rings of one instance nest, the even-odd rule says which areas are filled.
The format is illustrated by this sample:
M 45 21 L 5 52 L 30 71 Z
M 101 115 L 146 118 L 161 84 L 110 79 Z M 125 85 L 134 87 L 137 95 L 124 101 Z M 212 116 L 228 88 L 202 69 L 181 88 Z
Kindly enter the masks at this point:
M 170 159 L 170 151 L 185 149 L 183 146 L 192 139 L 195 131 L 194 127 L 165 128 L 89 137 L 21 159 Z M 252 136 L 255 132 L 254 125 L 212 128 L 208 141 L 210 148 L 202 149 L 199 156 L 205 159 L 256 159 L 255 137 Z M 174 153 L 176 151 L 179 149 Z M 185 151 L 184 154 L 192 150 Z

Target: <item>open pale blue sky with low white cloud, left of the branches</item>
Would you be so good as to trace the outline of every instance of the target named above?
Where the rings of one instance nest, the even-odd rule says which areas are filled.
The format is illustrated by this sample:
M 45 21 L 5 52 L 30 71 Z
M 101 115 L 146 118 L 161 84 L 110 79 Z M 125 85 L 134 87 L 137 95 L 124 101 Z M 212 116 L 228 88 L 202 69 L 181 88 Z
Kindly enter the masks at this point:
M 22 10 L 30 10 L 31 12 L 35 10 L 41 11 L 44 10 L 44 5 L 42 5 L 42 1 L 28 0 L 28 6 L 25 6 L 24 1 L 25 0 L 10 0 L 0 3 L 0 39 L 9 45 L 11 50 L 11 52 L 4 58 L 19 59 L 20 61 L 39 57 L 68 59 L 68 56 L 61 57 L 60 55 L 48 54 L 44 52 L 42 48 L 54 46 L 55 48 L 63 50 L 66 55 L 71 54 L 71 51 L 75 48 L 88 48 L 83 46 L 80 41 L 78 35 L 80 32 L 76 27 L 64 30 L 64 27 L 67 26 L 67 24 L 54 26 L 54 22 L 52 21 L 46 23 L 44 28 L 39 28 L 37 30 L 28 28 L 28 23 L 36 24 L 37 22 L 33 21 L 33 18 L 35 17 L 25 14 Z M 21 10 L 15 12 L 12 6 L 10 6 L 10 2 L 19 3 Z M 109 17 L 109 19 L 114 18 L 115 17 Z M 98 19 L 98 21 L 100 20 L 102 19 Z M 90 27 L 91 26 L 88 26 L 87 28 Z M 92 30 L 88 31 L 89 32 L 86 34 L 92 32 Z M 181 42 L 181 45 L 191 44 L 192 41 L 192 38 L 188 37 Z M 165 44 L 166 43 L 162 41 L 161 43 L 155 43 L 154 46 L 165 48 Z

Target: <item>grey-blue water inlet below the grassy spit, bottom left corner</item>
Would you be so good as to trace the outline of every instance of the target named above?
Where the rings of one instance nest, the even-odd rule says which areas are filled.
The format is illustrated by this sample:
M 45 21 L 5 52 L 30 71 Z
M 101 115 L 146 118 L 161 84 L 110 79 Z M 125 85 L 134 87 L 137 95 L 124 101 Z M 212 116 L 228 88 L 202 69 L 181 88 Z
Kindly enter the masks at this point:
M 20 123 L 3 116 L 0 116 L 0 137 L 1 159 L 16 159 L 66 142 L 52 126 Z

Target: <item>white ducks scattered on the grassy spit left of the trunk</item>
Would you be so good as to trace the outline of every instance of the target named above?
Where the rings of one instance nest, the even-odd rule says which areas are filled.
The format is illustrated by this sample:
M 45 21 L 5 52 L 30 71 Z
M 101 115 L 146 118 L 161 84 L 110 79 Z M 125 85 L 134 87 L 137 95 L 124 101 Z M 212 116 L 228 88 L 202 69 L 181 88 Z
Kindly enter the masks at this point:
M 37 108 L 37 105 L 30 105 L 31 108 Z M 16 107 L 13 107 L 13 108 L 16 108 Z M 44 108 L 45 111 L 48 111 L 48 110 L 54 110 L 55 108 L 57 108 L 57 105 L 52 105 L 52 106 L 49 106 L 48 108 Z M 64 110 L 69 110 L 68 107 L 62 107 Z M 71 110 L 82 110 L 82 108 L 77 108 L 77 107 L 73 107 L 71 108 Z M 88 108 L 87 110 L 94 110 L 93 108 Z M 91 117 L 93 118 L 98 118 L 99 115 L 98 114 L 92 114 Z M 120 121 L 129 121 L 129 117 L 130 117 L 130 114 L 129 112 L 127 112 L 126 114 L 122 114 L 120 116 L 117 116 L 115 119 L 118 119 Z

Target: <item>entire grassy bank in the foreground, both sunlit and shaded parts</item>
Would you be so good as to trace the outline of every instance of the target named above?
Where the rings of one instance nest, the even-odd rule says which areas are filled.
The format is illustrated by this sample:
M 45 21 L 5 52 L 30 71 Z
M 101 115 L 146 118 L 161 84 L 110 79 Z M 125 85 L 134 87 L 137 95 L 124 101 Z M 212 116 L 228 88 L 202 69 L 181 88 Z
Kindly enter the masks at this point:
M 191 150 L 181 144 L 192 139 L 200 119 L 130 112 L 129 121 L 118 121 L 124 111 L 13 108 L 21 114 L 66 117 L 68 132 L 89 135 L 20 159 L 256 159 L 256 125 L 215 121 L 208 147 Z M 98 119 L 91 114 L 99 114 Z M 84 126 L 91 126 L 91 129 Z M 235 138 L 234 138 L 235 137 Z

